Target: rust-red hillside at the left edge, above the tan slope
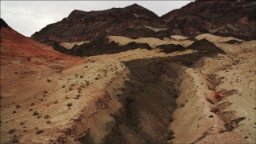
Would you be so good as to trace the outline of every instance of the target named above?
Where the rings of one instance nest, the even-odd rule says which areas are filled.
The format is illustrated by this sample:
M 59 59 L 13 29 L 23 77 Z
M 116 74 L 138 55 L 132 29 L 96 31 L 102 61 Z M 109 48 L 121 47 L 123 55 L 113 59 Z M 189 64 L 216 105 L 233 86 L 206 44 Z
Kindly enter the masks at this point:
M 26 86 L 38 74 L 54 74 L 82 58 L 74 58 L 52 50 L 52 47 L 4 26 L 1 19 L 1 89 L 10 90 L 16 83 Z M 3 94 L 5 95 L 5 94 Z M 7 95 L 6 95 L 7 96 Z

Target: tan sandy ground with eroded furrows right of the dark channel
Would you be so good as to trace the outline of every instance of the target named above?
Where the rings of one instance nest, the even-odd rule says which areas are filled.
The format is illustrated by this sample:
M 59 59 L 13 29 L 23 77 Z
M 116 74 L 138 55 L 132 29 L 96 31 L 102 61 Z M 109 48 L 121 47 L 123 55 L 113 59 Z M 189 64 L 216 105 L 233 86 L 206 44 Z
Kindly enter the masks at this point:
M 174 143 L 254 143 L 255 41 L 203 34 L 227 55 L 203 58 L 182 74 Z M 236 40 L 236 44 L 227 44 Z M 242 42 L 242 43 L 240 43 Z M 192 84 L 192 85 L 191 85 Z

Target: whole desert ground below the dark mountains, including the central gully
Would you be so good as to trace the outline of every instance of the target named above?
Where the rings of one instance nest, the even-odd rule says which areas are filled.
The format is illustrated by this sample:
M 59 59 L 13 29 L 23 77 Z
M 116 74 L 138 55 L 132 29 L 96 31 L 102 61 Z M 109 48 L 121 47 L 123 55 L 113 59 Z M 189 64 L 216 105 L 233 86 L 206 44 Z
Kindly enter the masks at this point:
M 2 143 L 256 142 L 256 41 L 202 34 L 227 54 L 166 54 L 159 45 L 193 42 L 141 38 L 156 48 L 74 58 L 13 33 L 2 31 Z

